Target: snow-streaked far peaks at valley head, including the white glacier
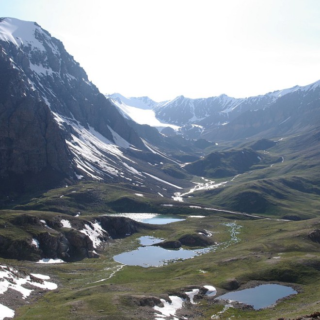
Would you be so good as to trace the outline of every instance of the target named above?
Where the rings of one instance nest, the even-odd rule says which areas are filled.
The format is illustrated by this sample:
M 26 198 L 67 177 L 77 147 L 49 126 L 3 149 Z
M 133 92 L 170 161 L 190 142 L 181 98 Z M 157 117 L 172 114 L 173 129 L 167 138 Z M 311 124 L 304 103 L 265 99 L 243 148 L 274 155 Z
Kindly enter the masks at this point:
M 147 123 L 155 126 L 156 122 L 170 124 L 179 127 L 180 133 L 189 138 L 197 138 L 206 134 L 207 130 L 224 126 L 240 114 L 253 111 L 265 110 L 272 106 L 278 99 L 290 94 L 299 94 L 302 96 L 315 91 L 320 87 L 320 80 L 305 86 L 293 86 L 291 88 L 269 92 L 265 95 L 250 96 L 245 98 L 234 98 L 222 94 L 220 96 L 211 96 L 208 98 L 188 98 L 185 96 L 176 96 L 172 100 L 159 103 L 148 102 L 150 99 L 145 97 L 145 105 L 141 105 L 142 98 L 124 98 L 116 95 L 116 104 L 122 110 L 125 116 L 135 120 L 138 123 Z M 138 99 L 138 100 L 136 100 Z M 138 101 L 139 103 L 136 103 Z M 142 122 L 142 110 L 128 109 L 128 106 L 135 108 L 148 108 L 152 111 L 153 122 Z M 169 126 L 168 126 L 169 127 Z M 199 130 L 201 128 L 201 130 Z

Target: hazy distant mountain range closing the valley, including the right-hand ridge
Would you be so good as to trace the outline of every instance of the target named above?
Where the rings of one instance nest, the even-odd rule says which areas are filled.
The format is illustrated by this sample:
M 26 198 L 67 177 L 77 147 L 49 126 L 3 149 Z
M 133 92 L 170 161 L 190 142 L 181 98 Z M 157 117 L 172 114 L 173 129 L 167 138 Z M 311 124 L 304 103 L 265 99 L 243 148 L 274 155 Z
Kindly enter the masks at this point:
M 178 96 L 170 101 L 156 103 L 148 97 L 126 98 L 120 94 L 110 97 L 128 116 L 130 112 L 127 111 L 131 107 L 152 110 L 162 124 L 160 127 L 154 125 L 154 121 L 149 121 L 151 126 L 161 129 L 168 124 L 168 127 L 175 128 L 188 138 L 202 137 L 215 141 L 247 138 L 256 134 L 272 137 L 283 134 L 286 128 L 290 131 L 289 127 L 292 126 L 299 131 L 306 126 L 317 125 L 319 94 L 320 81 L 248 98 L 221 95 L 191 99 Z M 310 107 L 307 107 L 308 110 L 300 110 L 301 105 Z M 309 110 L 312 106 L 316 108 L 316 114 Z M 304 116 L 304 112 L 308 115 Z

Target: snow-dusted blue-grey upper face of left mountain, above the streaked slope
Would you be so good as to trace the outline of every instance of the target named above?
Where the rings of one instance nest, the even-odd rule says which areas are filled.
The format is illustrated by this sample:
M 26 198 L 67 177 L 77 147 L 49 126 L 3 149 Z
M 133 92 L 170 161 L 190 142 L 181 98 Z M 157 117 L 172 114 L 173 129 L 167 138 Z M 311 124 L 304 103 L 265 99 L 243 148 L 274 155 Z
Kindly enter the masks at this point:
M 109 125 L 129 143 L 142 146 L 134 130 L 88 80 L 85 71 L 66 52 L 61 41 L 36 23 L 12 18 L 4 18 L 0 23 L 4 29 L 6 25 L 16 28 L 15 32 L 8 32 L 16 41 L 3 37 L 1 41 L 12 66 L 28 78 L 33 90 L 52 112 L 73 118 L 84 127 L 96 128 L 113 141 Z M 30 90 L 25 94 L 29 96 Z

